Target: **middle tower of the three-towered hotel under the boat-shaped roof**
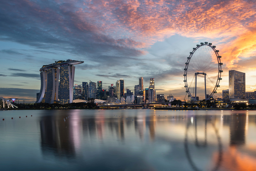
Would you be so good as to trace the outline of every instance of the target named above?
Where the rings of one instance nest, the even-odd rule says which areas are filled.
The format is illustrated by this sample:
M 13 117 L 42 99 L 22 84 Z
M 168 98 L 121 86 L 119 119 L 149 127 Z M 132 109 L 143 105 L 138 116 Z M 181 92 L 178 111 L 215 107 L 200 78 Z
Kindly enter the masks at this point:
M 59 69 L 49 68 L 46 74 L 45 103 L 56 103 L 58 102 L 59 91 Z

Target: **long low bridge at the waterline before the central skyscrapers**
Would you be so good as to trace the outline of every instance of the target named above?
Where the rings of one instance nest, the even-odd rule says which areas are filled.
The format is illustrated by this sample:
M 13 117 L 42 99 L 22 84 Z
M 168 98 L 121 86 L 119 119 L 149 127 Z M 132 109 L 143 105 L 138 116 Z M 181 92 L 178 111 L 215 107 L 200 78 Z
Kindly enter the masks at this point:
M 101 105 L 98 106 L 101 109 L 109 108 L 119 108 L 126 109 L 127 107 L 142 107 L 142 109 L 148 109 L 150 106 L 160 105 L 160 104 L 171 104 L 171 102 L 160 102 L 160 103 L 140 103 L 140 104 L 113 104 L 113 105 Z

